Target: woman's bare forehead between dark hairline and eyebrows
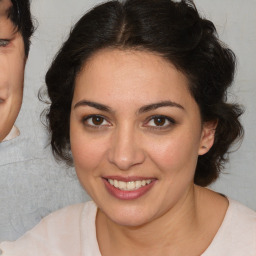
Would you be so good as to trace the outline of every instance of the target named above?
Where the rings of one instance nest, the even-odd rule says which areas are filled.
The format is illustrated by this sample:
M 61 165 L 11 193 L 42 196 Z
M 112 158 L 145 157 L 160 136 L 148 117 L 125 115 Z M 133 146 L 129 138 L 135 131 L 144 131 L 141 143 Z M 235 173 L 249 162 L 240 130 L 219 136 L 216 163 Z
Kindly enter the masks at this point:
M 190 92 L 187 78 L 162 57 L 111 49 L 94 55 L 77 76 L 74 98 L 84 97 L 145 105 L 169 98 L 182 103 Z

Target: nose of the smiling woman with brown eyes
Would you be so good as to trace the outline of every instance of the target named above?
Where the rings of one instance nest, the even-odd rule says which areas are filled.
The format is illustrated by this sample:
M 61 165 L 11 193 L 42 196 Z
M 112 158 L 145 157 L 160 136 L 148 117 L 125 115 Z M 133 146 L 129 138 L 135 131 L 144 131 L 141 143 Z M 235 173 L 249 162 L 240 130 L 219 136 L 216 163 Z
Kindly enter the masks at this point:
M 118 129 L 114 132 L 110 150 L 109 161 L 120 170 L 129 170 L 145 160 L 145 152 L 142 148 L 139 134 L 133 129 Z

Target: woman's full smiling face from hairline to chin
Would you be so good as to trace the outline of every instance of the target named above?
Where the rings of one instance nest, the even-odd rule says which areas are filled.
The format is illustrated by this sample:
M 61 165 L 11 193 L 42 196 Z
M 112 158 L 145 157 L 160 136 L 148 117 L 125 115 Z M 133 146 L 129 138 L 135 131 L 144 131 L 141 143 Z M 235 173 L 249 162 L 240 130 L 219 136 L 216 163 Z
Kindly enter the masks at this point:
M 147 52 L 102 50 L 77 76 L 71 108 L 78 178 L 112 221 L 142 225 L 190 193 L 198 154 L 212 141 L 173 65 Z

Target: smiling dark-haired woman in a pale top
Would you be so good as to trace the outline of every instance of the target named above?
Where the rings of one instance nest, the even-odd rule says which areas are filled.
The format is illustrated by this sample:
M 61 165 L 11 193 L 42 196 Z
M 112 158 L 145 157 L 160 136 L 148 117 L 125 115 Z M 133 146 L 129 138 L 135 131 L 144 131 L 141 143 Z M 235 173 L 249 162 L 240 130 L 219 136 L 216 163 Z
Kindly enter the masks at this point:
M 235 56 L 192 1 L 111 1 L 76 24 L 47 75 L 55 156 L 93 201 L 3 255 L 255 255 L 256 214 L 205 186 L 243 134 Z

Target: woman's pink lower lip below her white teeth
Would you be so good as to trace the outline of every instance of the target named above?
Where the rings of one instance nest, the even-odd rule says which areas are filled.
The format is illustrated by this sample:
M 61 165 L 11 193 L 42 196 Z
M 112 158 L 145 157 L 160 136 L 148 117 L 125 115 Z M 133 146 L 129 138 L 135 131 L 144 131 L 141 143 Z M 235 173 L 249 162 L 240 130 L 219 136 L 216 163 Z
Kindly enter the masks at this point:
M 146 194 L 154 185 L 156 180 L 153 180 L 150 184 L 143 186 L 133 191 L 120 190 L 112 186 L 106 179 L 103 179 L 107 191 L 114 197 L 122 200 L 137 199 Z

